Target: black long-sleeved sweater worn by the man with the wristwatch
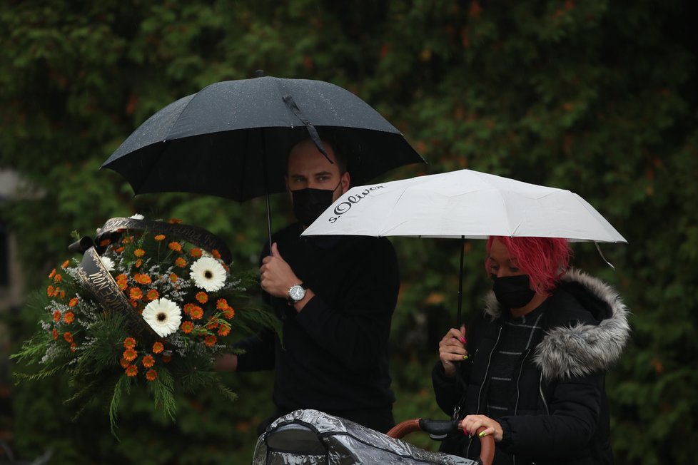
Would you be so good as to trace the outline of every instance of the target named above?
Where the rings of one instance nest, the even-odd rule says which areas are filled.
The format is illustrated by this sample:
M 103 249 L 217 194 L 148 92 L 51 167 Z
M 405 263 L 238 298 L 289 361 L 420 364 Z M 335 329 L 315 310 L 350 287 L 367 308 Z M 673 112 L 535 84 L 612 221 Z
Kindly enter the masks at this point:
M 390 412 L 394 402 L 388 336 L 400 280 L 393 246 L 384 237 L 300 237 L 298 224 L 272 240 L 315 297 L 297 313 L 265 295 L 283 322 L 283 342 L 272 332 L 241 342 L 238 371 L 275 369 L 278 413 L 317 409 L 384 429 L 371 412 Z

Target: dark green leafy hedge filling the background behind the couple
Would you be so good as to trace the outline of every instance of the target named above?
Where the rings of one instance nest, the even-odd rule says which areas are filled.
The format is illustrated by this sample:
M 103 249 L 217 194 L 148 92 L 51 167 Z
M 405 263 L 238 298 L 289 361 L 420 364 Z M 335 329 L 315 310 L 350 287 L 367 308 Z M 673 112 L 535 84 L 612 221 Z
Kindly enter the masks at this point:
M 1 204 L 29 287 L 67 256 L 72 230 L 115 215 L 181 218 L 256 266 L 263 199 L 140 195 L 98 170 L 148 116 L 215 81 L 311 78 L 348 88 L 398 126 L 429 165 L 567 188 L 627 238 L 575 245 L 575 265 L 616 286 L 633 338 L 607 381 L 619 464 L 690 463 L 698 441 L 698 42 L 692 1 L 36 1 L 0 6 L 0 168 L 34 187 Z M 193 154 L 195 156 L 196 154 Z M 186 166 L 181 167 L 186 169 Z M 40 195 L 36 195 L 36 193 Z M 272 198 L 273 223 L 288 220 Z M 442 417 L 430 392 L 436 343 L 455 320 L 456 241 L 393 240 L 398 421 Z M 466 317 L 487 280 L 466 245 Z M 36 309 L 2 312 L 13 344 Z M 229 375 L 240 399 L 182 398 L 178 422 L 132 393 L 118 431 L 105 412 L 70 422 L 63 380 L 12 388 L 0 428 L 17 456 L 52 463 L 246 463 L 270 411 L 269 374 Z M 88 412 L 90 412 L 88 410 Z M 422 436 L 415 444 L 434 448 Z

